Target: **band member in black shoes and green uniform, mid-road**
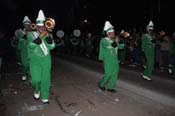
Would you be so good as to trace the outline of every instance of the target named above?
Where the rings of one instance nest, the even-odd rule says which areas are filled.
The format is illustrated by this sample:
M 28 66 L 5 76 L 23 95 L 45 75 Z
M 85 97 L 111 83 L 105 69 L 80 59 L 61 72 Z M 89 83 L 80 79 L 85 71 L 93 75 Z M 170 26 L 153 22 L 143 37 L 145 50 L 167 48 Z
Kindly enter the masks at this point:
M 118 79 L 119 61 L 118 49 L 123 49 L 124 44 L 119 43 L 119 38 L 115 36 L 114 28 L 109 21 L 105 22 L 104 31 L 106 37 L 100 41 L 99 60 L 104 64 L 104 77 L 99 81 L 99 88 L 104 91 L 108 85 L 108 91 L 115 93 L 116 80 Z

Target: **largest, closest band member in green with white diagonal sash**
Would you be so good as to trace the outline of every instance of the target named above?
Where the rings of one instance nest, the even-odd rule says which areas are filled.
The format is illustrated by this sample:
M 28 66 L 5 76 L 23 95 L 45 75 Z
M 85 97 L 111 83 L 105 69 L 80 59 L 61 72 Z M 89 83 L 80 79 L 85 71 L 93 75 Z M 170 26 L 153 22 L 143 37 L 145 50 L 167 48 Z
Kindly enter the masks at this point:
M 40 98 L 42 102 L 49 103 L 51 55 L 50 50 L 54 49 L 55 43 L 46 31 L 45 16 L 42 10 L 39 11 L 36 19 L 37 31 L 28 34 L 28 51 L 30 59 L 30 72 L 32 86 L 34 88 L 34 99 Z

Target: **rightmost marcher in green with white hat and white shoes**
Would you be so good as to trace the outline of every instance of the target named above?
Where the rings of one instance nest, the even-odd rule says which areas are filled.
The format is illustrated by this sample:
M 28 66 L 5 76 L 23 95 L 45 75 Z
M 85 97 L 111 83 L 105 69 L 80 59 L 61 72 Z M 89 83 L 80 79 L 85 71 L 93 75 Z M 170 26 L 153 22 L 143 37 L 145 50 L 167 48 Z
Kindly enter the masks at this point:
M 151 80 L 152 71 L 154 68 L 154 40 L 152 37 L 152 32 L 154 29 L 154 24 L 152 21 L 146 26 L 147 33 L 142 36 L 142 51 L 146 57 L 146 69 L 142 74 L 143 79 L 148 81 Z

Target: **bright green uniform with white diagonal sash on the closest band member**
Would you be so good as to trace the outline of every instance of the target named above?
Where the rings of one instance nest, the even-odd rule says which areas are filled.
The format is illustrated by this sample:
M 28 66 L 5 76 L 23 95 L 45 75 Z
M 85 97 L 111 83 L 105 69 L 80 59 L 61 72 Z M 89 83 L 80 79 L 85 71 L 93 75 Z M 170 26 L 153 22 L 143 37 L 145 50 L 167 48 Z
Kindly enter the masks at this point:
M 39 32 L 28 34 L 28 54 L 30 60 L 30 72 L 32 86 L 36 93 L 41 93 L 42 99 L 48 99 L 50 88 L 51 55 L 50 50 L 54 49 L 55 44 L 48 44 L 46 36 L 42 37 L 42 44 L 35 44 L 34 39 L 38 38 Z

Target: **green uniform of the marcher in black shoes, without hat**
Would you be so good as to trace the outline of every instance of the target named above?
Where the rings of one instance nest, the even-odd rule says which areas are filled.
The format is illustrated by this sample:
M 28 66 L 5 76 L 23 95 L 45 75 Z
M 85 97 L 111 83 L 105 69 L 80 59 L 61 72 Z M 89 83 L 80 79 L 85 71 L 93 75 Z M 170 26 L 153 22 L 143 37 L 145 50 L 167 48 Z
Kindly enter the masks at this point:
M 124 44 L 117 43 L 117 47 L 112 47 L 113 41 L 108 37 L 103 38 L 100 41 L 99 60 L 103 61 L 105 75 L 100 80 L 100 86 L 105 87 L 108 85 L 108 89 L 114 89 L 116 86 L 116 80 L 118 79 L 119 61 L 117 57 L 118 49 L 123 49 Z

